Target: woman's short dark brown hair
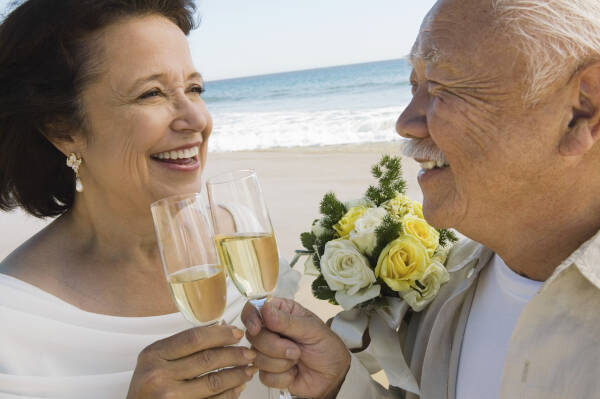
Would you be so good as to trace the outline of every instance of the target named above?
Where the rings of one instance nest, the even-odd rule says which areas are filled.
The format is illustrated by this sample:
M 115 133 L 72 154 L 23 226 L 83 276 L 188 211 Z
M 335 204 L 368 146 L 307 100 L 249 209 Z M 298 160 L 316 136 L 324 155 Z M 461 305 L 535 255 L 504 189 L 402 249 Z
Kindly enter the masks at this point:
M 37 217 L 73 206 L 75 176 L 47 137 L 83 127 L 93 35 L 120 18 L 162 15 L 186 35 L 193 0 L 29 0 L 0 25 L 0 209 Z

